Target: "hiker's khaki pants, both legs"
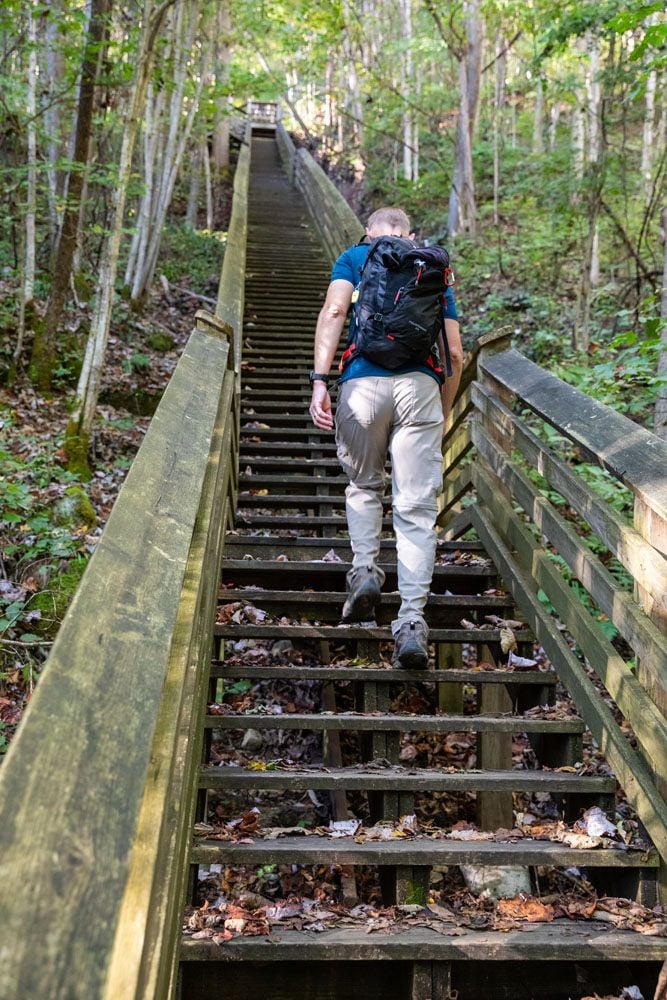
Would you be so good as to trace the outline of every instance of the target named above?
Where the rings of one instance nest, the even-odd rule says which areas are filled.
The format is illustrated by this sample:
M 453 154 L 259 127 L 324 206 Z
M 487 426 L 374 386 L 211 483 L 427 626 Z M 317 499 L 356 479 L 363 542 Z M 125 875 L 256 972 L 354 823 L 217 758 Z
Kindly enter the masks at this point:
M 336 409 L 338 460 L 350 480 L 345 491 L 352 573 L 378 568 L 385 462 L 391 455 L 394 532 L 401 606 L 406 621 L 424 622 L 435 561 L 437 497 L 442 490 L 443 416 L 440 389 L 424 372 L 350 379 Z M 426 624 L 424 622 L 424 624 Z

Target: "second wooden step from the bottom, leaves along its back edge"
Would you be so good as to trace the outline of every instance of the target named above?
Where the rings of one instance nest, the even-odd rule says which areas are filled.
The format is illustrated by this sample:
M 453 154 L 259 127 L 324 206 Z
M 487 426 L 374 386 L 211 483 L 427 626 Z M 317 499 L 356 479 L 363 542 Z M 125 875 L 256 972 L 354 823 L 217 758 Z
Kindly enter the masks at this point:
M 424 836 L 362 841 L 352 837 L 279 837 L 252 844 L 195 840 L 192 861 L 200 865 L 553 865 L 557 868 L 655 869 L 655 851 L 580 849 L 525 837 L 510 843 L 493 840 L 448 840 Z

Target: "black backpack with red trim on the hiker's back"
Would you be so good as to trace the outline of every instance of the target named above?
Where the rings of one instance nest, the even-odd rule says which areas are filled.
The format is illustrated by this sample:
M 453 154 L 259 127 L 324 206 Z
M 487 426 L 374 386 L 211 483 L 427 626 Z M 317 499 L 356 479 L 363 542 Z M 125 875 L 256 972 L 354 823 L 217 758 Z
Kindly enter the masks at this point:
M 400 236 L 378 236 L 370 244 L 354 305 L 356 332 L 341 370 L 362 356 L 383 368 L 412 363 L 441 371 L 436 341 L 442 332 L 446 372 L 452 374 L 442 310 L 454 283 L 443 247 L 418 247 Z

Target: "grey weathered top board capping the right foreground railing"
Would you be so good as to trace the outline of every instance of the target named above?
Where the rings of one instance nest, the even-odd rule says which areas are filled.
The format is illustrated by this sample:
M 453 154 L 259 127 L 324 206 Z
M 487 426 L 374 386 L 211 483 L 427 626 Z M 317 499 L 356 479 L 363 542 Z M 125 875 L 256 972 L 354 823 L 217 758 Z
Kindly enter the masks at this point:
M 667 443 L 510 349 L 480 369 L 515 393 L 590 458 L 629 486 L 651 511 L 649 541 L 667 552 Z

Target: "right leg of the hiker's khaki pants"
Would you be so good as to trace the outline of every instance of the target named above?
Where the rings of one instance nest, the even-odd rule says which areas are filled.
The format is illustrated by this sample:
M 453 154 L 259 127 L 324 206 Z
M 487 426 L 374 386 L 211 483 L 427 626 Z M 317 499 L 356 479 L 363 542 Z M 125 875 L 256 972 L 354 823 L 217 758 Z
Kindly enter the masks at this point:
M 443 416 L 440 388 L 423 372 L 397 376 L 392 461 L 393 514 L 401 606 L 392 622 L 424 620 L 435 562 L 437 498 L 442 491 Z

